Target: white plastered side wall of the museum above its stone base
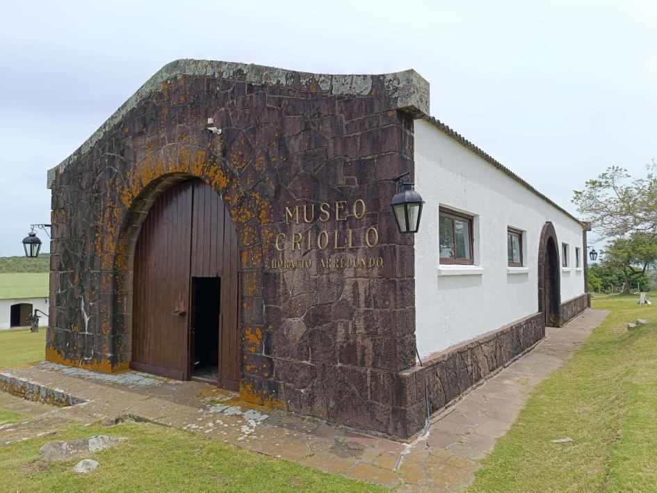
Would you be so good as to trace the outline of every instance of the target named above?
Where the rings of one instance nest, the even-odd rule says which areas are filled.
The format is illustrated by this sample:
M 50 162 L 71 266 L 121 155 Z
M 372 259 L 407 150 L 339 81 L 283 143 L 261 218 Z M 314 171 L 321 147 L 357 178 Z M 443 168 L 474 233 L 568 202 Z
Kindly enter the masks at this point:
M 584 292 L 582 227 L 518 181 L 446 136 L 415 122 L 415 181 L 425 205 L 415 235 L 416 341 L 421 357 L 503 327 L 538 311 L 538 243 L 551 221 L 569 245 L 561 272 L 561 301 Z M 439 264 L 438 208 L 474 217 L 474 265 Z M 523 234 L 524 268 L 508 268 L 508 227 Z M 511 272 L 510 272 L 511 270 Z

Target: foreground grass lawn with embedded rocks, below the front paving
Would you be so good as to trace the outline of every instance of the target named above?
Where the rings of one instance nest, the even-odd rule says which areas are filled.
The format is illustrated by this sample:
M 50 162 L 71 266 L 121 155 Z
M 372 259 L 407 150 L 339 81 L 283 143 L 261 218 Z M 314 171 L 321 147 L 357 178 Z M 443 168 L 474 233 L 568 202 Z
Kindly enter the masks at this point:
M 39 448 L 45 442 L 100 434 L 128 439 L 90 455 L 100 465 L 86 476 L 72 471 L 81 458 L 66 462 L 39 459 Z M 73 425 L 55 437 L 0 446 L 0 478 L 2 490 L 12 492 L 384 491 L 194 433 L 131 422 L 111 428 Z

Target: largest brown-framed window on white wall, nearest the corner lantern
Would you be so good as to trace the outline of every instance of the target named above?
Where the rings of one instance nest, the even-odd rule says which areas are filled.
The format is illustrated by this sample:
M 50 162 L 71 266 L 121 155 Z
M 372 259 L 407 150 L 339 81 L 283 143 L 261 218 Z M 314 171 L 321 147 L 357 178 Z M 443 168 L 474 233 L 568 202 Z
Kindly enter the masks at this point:
M 472 216 L 441 207 L 438 230 L 441 264 L 473 264 Z

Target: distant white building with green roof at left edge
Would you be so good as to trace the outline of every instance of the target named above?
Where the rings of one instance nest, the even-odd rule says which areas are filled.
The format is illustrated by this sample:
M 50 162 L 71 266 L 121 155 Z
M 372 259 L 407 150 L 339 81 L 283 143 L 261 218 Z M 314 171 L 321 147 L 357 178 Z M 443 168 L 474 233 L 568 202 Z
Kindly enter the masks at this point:
M 35 309 L 48 313 L 49 275 L 47 272 L 0 274 L 0 329 L 30 325 L 27 317 Z

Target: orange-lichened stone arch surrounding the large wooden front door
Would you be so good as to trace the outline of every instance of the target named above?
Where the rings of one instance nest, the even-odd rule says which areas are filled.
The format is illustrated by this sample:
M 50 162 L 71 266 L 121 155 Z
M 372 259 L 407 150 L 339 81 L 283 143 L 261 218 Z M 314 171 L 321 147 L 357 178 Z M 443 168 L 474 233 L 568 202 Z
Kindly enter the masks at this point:
M 147 218 L 152 205 L 163 193 L 180 186 L 186 181 L 202 181 L 222 197 L 236 231 L 238 243 L 238 333 L 239 354 L 243 353 L 243 330 L 248 330 L 242 323 L 252 322 L 251 312 L 263 311 L 262 298 L 262 256 L 261 223 L 263 219 L 262 201 L 253 197 L 252 192 L 245 188 L 240 179 L 215 154 L 199 152 L 191 145 L 176 144 L 178 152 L 167 152 L 166 147 L 157 154 L 163 160 L 145 160 L 135 166 L 134 172 L 128 175 L 122 183 L 120 197 L 127 205 L 122 216 L 122 227 L 115 239 L 115 255 L 111 271 L 111 318 L 108 330 L 111 331 L 112 351 L 115 360 L 111 371 L 127 369 L 133 359 L 133 283 L 135 267 L 135 248 L 141 227 Z M 202 161 L 190 163 L 180 159 L 181 154 L 189 156 L 198 153 Z M 209 154 L 209 155 L 208 155 Z M 191 172 L 190 172 L 191 171 Z M 161 173 L 158 175 L 158 173 Z M 146 179 L 145 179 L 146 177 Z M 116 207 L 120 208 L 120 203 Z M 248 296 L 248 302 L 243 297 Z M 241 358 L 239 358 L 241 359 Z M 239 380 L 240 372 L 237 378 Z M 232 378 L 230 379 L 232 380 Z M 237 389 L 234 380 L 229 387 Z

